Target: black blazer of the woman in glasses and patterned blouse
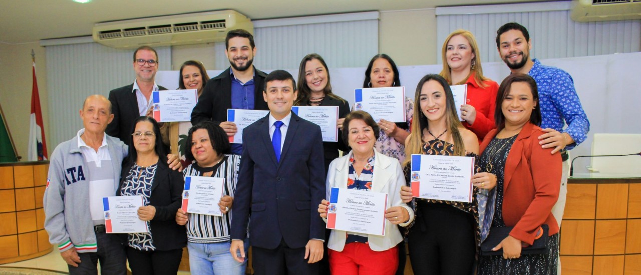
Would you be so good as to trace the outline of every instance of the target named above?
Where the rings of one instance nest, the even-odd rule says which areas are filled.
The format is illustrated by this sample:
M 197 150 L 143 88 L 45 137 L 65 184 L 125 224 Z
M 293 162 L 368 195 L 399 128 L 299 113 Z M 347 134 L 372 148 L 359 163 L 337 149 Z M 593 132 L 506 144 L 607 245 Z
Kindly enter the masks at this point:
M 120 196 L 124 181 L 134 164 L 135 162 L 129 159 L 122 162 L 118 196 Z M 185 226 L 176 224 L 176 212 L 183 202 L 184 188 L 183 174 L 169 169 L 167 164 L 163 163 L 162 158 L 159 158 L 158 168 L 156 168 L 156 174 L 154 174 L 151 183 L 151 196 L 149 196 L 149 205 L 156 208 L 156 215 L 149 224 L 151 227 L 149 233 L 153 236 L 153 244 L 158 251 L 181 249 L 187 246 L 187 229 Z M 126 234 L 123 235 L 126 237 Z

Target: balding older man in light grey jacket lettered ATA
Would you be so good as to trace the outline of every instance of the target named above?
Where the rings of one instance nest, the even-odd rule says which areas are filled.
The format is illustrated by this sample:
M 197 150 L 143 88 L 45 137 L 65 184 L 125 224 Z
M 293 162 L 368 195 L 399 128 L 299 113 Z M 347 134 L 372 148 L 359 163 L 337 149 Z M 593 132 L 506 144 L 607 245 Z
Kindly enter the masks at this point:
M 84 128 L 76 137 L 58 144 L 51 154 L 44 228 L 49 242 L 58 247 L 67 263 L 69 274 L 97 274 L 100 262 L 102 274 L 124 275 L 125 248 L 118 234 L 106 233 L 103 197 L 116 195 L 129 147 L 104 134 L 113 119 L 106 97 L 88 96 L 79 113 Z M 167 158 L 171 169 L 180 168 L 176 155 Z

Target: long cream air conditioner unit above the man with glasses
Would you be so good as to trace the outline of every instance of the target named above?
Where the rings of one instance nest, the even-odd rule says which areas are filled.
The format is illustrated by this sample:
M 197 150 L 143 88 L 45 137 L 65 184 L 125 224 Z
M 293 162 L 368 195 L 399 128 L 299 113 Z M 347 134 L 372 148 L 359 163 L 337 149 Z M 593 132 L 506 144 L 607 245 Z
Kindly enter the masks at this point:
M 221 42 L 230 29 L 253 33 L 254 25 L 245 15 L 222 10 L 98 23 L 93 37 L 105 46 L 131 49 Z

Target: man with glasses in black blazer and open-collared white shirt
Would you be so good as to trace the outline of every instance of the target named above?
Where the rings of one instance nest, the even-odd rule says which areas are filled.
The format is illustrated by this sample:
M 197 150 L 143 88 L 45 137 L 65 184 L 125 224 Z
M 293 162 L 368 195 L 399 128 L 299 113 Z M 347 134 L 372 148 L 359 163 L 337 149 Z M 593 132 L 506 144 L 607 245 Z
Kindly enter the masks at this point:
M 156 85 L 158 54 L 152 47 L 141 46 L 133 52 L 133 71 L 136 72 L 136 80 L 132 84 L 109 92 L 113 121 L 105 131 L 107 135 L 120 138 L 128 146 L 131 145 L 129 135 L 133 121 L 142 115 L 150 115 L 153 111 L 151 92 L 167 90 Z

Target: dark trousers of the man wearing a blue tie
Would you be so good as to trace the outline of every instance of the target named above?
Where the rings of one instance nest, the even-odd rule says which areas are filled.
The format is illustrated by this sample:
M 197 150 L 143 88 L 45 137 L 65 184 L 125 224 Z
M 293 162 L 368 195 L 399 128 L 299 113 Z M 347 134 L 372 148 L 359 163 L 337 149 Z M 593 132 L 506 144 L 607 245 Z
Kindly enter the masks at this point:
M 254 275 L 317 275 L 320 265 L 307 263 L 305 247 L 291 248 L 284 241 L 276 249 L 252 247 Z

